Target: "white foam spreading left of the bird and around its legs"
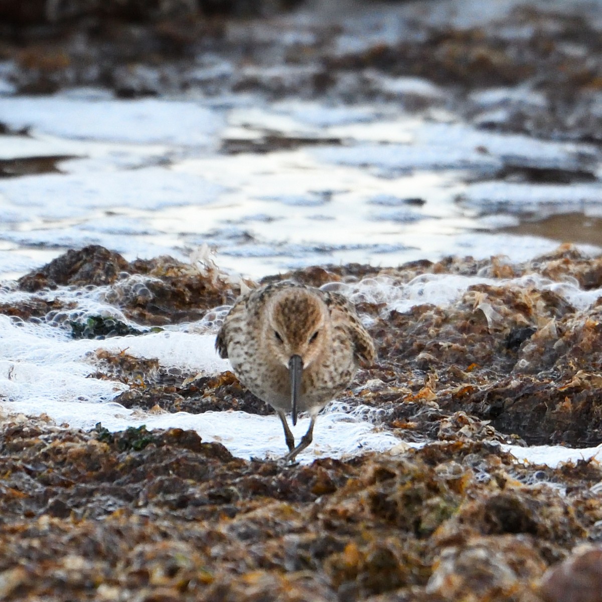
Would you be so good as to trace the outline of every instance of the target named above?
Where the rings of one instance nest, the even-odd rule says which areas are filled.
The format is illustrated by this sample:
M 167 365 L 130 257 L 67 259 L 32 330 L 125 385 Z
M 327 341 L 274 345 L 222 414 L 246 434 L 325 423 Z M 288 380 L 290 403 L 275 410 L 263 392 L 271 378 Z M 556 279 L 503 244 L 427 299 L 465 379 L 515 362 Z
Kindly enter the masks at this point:
M 4 299 L 23 299 L 27 293 L 6 291 Z M 71 317 L 107 315 L 111 309 L 100 300 L 102 289 L 83 295 L 70 288 L 46 293 L 46 297 L 77 300 Z M 2 297 L 0 295 L 0 297 Z M 123 318 L 116 308 L 111 315 Z M 64 316 L 63 316 L 64 318 Z M 54 320 L 56 323 L 56 319 Z M 128 386 L 94 377 L 95 354 L 104 349 L 138 358 L 157 358 L 160 365 L 184 373 L 214 374 L 228 370 L 228 361 L 214 350 L 214 334 L 202 334 L 202 324 L 179 324 L 171 330 L 137 337 L 107 340 L 72 340 L 69 332 L 51 323 L 30 323 L 0 315 L 0 400 L 8 411 L 29 415 L 47 414 L 59 424 L 90 429 L 101 422 L 110 430 L 145 424 L 148 429 L 181 427 L 195 429 L 205 441 L 219 441 L 237 456 L 281 456 L 285 451 L 280 421 L 245 412 L 204 414 L 148 414 L 126 409 L 113 400 Z M 200 330 L 200 334 L 195 331 Z M 367 408 L 348 408 L 335 403 L 320 417 L 315 444 L 302 456 L 308 462 L 320 456 L 343 457 L 362 450 L 382 451 L 398 441 L 366 420 Z M 295 432 L 305 433 L 308 418 L 301 418 Z

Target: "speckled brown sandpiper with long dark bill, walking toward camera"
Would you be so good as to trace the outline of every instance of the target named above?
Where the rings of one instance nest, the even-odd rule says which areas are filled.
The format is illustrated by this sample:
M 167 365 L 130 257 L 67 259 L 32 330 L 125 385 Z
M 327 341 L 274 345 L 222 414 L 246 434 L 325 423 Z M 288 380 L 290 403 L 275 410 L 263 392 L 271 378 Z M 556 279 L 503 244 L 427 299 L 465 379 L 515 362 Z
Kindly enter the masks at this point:
M 230 359 L 240 382 L 276 410 L 289 450 L 286 462 L 311 443 L 318 412 L 375 356 L 370 335 L 345 297 L 290 281 L 238 297 L 216 349 Z M 296 447 L 288 411 L 293 424 L 297 412 L 311 417 Z

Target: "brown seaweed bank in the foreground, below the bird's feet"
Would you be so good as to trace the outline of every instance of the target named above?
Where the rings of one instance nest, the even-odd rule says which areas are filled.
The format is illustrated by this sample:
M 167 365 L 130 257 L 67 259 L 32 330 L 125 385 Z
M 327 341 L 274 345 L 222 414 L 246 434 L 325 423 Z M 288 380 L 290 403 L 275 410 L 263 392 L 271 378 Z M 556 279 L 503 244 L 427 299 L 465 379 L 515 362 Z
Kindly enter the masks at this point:
M 602 541 L 597 463 L 488 443 L 282 468 L 179 429 L 0 441 L 4 600 L 569 600 L 544 571 Z

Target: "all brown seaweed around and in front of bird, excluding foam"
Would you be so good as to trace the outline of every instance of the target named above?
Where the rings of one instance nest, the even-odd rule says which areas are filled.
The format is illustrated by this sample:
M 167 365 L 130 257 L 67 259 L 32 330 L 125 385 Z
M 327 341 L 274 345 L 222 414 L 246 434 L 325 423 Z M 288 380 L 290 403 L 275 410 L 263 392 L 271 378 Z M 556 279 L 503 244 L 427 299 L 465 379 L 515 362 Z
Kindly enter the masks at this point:
M 10 414 L 5 406 L 0 594 L 5 600 L 600 600 L 602 468 L 595 461 L 524 464 L 500 442 L 602 442 L 600 300 L 577 309 L 559 293 L 512 281 L 531 274 L 597 290 L 601 266 L 601 258 L 564 246 L 520 265 L 449 258 L 278 276 L 314 285 L 387 278 L 403 286 L 428 273 L 479 273 L 496 281 L 469 287 L 447 308 L 417 305 L 400 313 L 358 301 L 379 359 L 358 374 L 345 402 L 379 409 L 378 427 L 400 442 L 423 443 L 418 449 L 400 443 L 382 454 L 283 468 L 234 458 L 194 431 L 110 433 L 98 424 L 83 432 L 44 416 Z M 65 308 L 36 300 L 36 291 L 102 285 L 112 291 L 107 299 L 140 325 L 128 334 L 143 337 L 161 324 L 211 318 L 240 284 L 214 266 L 199 270 L 171 258 L 128 263 L 86 247 L 23 276 L 16 287 L 31 296 L 0 312 L 14 320 L 54 319 Z M 63 320 L 57 327 L 72 326 Z M 123 335 L 115 320 L 88 320 L 87 327 L 80 336 Z M 116 399 L 127 407 L 270 412 L 228 372 L 174 374 L 127 353 L 98 353 L 92 361 L 93 377 L 137 383 Z M 558 565 L 571 550 L 579 560 Z M 557 565 L 562 570 L 542 581 Z M 592 597 L 566 597 L 568 586 L 557 583 L 571 571 L 598 579 Z

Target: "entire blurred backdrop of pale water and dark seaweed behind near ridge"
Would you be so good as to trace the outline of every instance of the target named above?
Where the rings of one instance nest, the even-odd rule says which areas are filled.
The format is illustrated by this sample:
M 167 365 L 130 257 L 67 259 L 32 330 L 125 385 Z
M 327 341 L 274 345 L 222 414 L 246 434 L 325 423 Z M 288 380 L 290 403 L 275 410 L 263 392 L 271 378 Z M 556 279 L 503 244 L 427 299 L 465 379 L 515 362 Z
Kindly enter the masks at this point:
M 602 246 L 602 3 L 0 0 L 0 275 Z

